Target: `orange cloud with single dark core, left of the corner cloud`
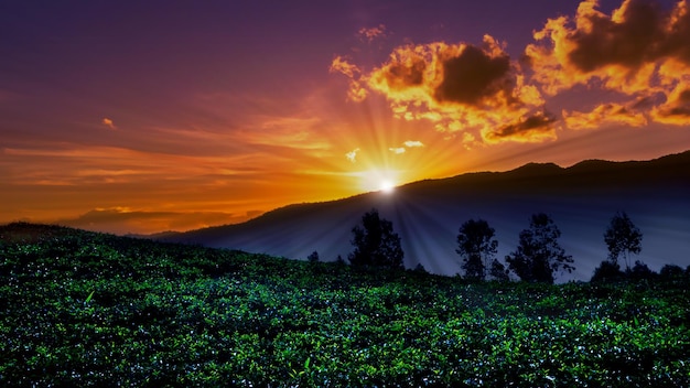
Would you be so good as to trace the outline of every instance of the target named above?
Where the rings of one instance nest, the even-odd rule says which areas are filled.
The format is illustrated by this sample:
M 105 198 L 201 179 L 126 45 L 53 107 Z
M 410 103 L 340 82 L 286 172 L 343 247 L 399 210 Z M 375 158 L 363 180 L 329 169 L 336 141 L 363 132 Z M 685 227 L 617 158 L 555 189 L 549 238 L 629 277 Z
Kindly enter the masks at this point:
M 510 61 L 504 46 L 489 35 L 478 46 L 409 44 L 395 48 L 388 61 L 357 79 L 359 86 L 384 95 L 397 118 L 432 121 L 440 131 L 492 131 L 516 118 L 528 121 L 530 111 L 543 105 L 539 90 L 525 83 L 519 64 Z M 351 68 L 337 60 L 332 68 Z

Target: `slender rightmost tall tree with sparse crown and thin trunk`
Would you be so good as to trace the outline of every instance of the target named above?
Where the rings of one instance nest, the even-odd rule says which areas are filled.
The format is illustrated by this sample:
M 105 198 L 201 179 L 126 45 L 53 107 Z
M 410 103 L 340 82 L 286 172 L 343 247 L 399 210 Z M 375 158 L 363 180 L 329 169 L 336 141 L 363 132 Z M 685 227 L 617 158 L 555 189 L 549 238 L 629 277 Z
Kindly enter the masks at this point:
M 611 225 L 604 233 L 604 241 L 608 247 L 608 260 L 618 261 L 618 257 L 623 255 L 625 268 L 630 269 L 629 255 L 639 254 L 642 251 L 643 234 L 633 224 L 625 212 L 616 213 L 611 218 Z

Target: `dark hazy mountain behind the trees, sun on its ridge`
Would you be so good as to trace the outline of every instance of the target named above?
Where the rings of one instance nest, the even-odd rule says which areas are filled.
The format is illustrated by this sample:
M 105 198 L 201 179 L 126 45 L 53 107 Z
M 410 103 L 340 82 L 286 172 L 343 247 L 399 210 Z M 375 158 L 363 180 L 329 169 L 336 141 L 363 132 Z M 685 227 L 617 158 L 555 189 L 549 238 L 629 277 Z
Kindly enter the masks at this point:
M 317 251 L 322 260 L 347 258 L 352 228 L 378 208 L 400 235 L 406 266 L 435 273 L 459 271 L 457 229 L 470 218 L 496 229 L 498 258 L 513 251 L 529 216 L 545 212 L 562 231 L 561 246 L 587 280 L 606 258 L 603 234 L 624 211 L 643 233 L 639 259 L 651 269 L 690 265 L 690 151 L 650 161 L 587 160 L 570 168 L 529 163 L 507 172 L 467 173 L 345 200 L 290 205 L 237 225 L 182 233 L 165 240 L 227 247 L 289 258 Z

